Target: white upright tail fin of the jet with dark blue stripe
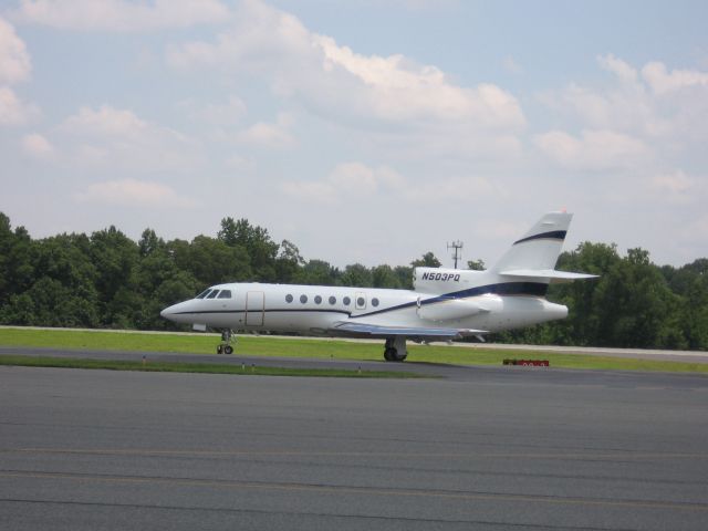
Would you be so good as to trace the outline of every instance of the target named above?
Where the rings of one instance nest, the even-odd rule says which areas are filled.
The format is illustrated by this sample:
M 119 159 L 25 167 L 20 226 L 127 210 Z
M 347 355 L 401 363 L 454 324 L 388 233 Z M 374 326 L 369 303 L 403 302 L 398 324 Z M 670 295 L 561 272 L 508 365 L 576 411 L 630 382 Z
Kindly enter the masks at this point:
M 546 214 L 523 238 L 513 242 L 491 270 L 499 274 L 553 271 L 572 218 L 573 215 L 566 212 Z

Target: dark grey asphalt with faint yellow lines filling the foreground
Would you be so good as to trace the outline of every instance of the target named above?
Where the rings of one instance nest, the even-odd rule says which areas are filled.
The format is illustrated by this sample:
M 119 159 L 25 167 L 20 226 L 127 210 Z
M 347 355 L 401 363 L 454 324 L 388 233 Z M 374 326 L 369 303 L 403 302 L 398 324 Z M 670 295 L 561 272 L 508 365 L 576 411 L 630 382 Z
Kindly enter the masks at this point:
M 398 367 L 0 367 L 0 529 L 707 528 L 705 376 Z

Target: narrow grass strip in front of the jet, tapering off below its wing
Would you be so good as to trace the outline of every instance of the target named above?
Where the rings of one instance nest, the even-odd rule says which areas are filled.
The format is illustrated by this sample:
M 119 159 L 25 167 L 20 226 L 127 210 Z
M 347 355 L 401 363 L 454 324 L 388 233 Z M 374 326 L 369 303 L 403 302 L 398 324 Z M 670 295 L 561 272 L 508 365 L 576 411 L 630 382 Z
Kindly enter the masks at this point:
M 258 376 L 316 376 L 331 378 L 426 378 L 428 376 L 395 371 L 354 371 L 344 368 L 290 368 L 216 363 L 135 362 L 121 360 L 83 360 L 75 357 L 35 357 L 0 354 L 0 365 L 18 367 L 102 368 L 146 373 L 205 373 Z

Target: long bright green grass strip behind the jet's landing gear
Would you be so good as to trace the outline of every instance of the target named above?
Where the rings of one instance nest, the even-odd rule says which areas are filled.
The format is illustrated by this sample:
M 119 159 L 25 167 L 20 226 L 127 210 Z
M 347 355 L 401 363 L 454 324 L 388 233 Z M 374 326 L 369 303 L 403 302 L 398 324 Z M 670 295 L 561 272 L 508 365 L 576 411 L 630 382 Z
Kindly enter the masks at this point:
M 140 352 L 215 353 L 218 335 L 142 334 L 112 331 L 65 331 L 0 329 L 0 345 Z M 448 345 L 410 345 L 408 361 L 459 365 L 501 365 L 506 357 L 549 360 L 551 367 L 620 371 L 708 373 L 708 364 L 590 356 L 555 352 L 492 348 L 459 348 Z M 283 357 L 332 357 L 382 361 L 383 341 L 355 343 L 316 339 L 244 335 L 238 337 L 235 354 Z

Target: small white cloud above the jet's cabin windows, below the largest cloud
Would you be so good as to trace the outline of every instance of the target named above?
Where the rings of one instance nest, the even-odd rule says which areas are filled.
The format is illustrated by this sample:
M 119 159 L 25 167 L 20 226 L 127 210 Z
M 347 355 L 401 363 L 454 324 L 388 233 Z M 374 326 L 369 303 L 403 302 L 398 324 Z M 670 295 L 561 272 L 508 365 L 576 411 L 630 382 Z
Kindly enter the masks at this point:
M 336 202 L 342 198 L 369 197 L 379 191 L 399 190 L 404 185 L 404 177 L 386 166 L 371 168 L 362 163 L 343 163 L 324 180 L 283 183 L 281 189 L 300 199 Z

